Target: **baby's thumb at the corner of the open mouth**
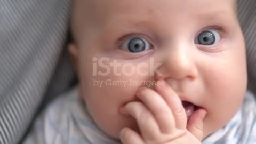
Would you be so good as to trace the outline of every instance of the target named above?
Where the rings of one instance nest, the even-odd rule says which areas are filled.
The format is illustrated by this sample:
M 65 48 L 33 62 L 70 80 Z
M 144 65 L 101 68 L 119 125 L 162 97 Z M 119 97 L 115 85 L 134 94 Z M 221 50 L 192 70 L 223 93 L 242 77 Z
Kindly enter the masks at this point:
M 187 124 L 187 130 L 195 135 L 195 137 L 199 140 L 203 140 L 203 120 L 206 116 L 207 112 L 204 109 L 198 109 L 194 112 L 193 115 L 190 116 L 188 119 L 188 124 Z

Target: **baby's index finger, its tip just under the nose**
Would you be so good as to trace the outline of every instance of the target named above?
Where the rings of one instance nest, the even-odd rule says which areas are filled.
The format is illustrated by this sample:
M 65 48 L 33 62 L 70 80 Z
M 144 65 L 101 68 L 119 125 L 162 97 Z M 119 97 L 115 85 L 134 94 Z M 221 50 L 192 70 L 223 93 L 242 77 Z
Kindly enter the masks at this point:
M 175 126 L 180 129 L 186 129 L 187 115 L 179 96 L 163 79 L 157 82 L 156 91 L 162 95 L 163 99 L 170 107 L 174 117 Z

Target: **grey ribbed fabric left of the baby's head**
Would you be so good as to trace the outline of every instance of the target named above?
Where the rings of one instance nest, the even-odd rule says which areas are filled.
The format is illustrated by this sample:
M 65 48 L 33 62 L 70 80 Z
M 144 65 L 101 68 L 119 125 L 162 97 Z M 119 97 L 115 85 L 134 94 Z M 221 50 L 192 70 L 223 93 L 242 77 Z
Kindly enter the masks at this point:
M 21 140 L 45 94 L 68 89 L 69 9 L 69 0 L 0 0 L 1 144 Z

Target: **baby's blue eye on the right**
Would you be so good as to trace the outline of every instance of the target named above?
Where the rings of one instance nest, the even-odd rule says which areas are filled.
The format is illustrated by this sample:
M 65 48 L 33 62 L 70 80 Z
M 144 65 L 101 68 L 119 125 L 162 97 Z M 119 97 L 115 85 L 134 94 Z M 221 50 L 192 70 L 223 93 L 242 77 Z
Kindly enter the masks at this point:
M 220 41 L 220 34 L 215 30 L 205 30 L 196 39 L 196 44 L 213 45 Z

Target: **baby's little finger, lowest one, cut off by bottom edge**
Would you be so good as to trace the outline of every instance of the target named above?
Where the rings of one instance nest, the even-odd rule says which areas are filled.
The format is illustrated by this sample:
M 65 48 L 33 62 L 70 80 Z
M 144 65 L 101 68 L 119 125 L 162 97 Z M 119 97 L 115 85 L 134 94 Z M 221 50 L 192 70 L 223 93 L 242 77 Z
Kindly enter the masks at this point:
M 127 127 L 121 130 L 120 139 L 123 144 L 144 144 L 140 135 Z

